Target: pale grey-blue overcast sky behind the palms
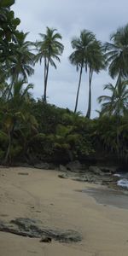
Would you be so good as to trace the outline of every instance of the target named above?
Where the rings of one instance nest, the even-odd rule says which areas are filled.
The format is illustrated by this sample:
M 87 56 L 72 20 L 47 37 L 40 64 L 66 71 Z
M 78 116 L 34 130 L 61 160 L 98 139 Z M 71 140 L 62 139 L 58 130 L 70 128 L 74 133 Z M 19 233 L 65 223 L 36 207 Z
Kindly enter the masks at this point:
M 119 26 L 128 23 L 128 1 L 122 0 L 16 0 L 13 6 L 15 16 L 20 18 L 19 29 L 30 32 L 27 39 L 36 41 L 38 33 L 45 33 L 46 26 L 56 28 L 62 35 L 64 52 L 61 56 L 61 64 L 57 64 L 57 70 L 53 67 L 49 70 L 48 102 L 62 108 L 74 109 L 77 93 L 79 73 L 69 61 L 72 53 L 71 40 L 79 36 L 83 29 L 96 34 L 96 38 L 102 42 L 109 41 L 112 32 L 116 32 Z M 44 93 L 44 68 L 36 65 L 35 73 L 29 82 L 34 84 L 33 96 L 41 97 Z M 92 113 L 96 116 L 99 109 L 96 98 L 103 92 L 102 85 L 111 82 L 108 73 L 94 74 L 92 81 Z M 83 73 L 83 79 L 79 94 L 78 111 L 83 114 L 87 111 L 88 104 L 88 80 Z

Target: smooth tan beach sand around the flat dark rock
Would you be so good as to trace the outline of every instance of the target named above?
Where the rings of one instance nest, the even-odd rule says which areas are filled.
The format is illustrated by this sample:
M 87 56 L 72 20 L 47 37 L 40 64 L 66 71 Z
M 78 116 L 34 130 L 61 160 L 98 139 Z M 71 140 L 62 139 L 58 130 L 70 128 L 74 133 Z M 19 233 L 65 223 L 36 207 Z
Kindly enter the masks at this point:
M 21 175 L 22 172 L 28 175 Z M 97 185 L 60 178 L 58 174 L 31 168 L 1 168 L 0 220 L 36 218 L 54 229 L 78 230 L 83 240 L 46 244 L 0 232 L 0 256 L 127 256 L 128 210 L 117 204 L 99 204 L 93 196 L 79 192 L 97 189 Z

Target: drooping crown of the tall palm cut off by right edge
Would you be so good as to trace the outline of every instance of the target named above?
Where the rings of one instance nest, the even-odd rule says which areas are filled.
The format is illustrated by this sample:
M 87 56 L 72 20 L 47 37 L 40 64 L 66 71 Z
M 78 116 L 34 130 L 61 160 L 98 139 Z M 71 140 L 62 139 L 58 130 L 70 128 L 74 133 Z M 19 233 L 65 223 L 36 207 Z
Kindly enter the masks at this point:
M 106 43 L 104 49 L 108 63 L 108 71 L 113 79 L 128 77 L 128 24 L 119 27 L 110 37 L 112 43 Z

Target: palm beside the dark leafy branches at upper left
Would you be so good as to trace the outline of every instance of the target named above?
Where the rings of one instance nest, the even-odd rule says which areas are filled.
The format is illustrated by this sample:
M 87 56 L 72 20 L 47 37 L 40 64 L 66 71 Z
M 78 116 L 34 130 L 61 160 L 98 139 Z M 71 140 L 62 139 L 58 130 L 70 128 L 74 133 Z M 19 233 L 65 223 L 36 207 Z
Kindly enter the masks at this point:
M 11 80 L 8 99 L 11 96 L 14 83 L 16 84 L 19 79 L 27 82 L 27 76 L 31 76 L 34 73 L 34 54 L 31 52 L 32 43 L 26 41 L 27 34 L 19 33 L 16 44 L 12 45 L 13 55 L 10 55 L 7 62 L 7 74 Z

